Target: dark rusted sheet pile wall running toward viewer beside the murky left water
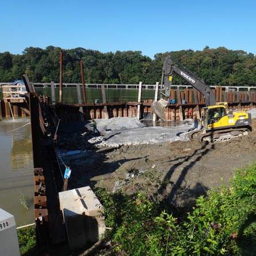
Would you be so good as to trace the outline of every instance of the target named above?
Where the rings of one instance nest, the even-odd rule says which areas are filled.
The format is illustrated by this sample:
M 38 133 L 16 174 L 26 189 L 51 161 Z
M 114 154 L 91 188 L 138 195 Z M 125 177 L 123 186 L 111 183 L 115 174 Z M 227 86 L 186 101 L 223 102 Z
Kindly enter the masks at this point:
M 37 246 L 42 248 L 66 241 L 58 200 L 63 180 L 49 133 L 49 117 L 44 108 L 41 108 L 39 97 L 28 77 L 22 75 L 22 78 L 28 91 L 25 98 L 29 106 L 32 131 L 36 239 Z

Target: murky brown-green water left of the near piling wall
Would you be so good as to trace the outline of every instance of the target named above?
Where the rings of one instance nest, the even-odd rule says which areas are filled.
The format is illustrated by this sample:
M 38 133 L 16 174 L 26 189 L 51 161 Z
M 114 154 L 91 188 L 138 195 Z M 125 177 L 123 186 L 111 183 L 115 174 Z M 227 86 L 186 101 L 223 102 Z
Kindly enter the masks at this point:
M 16 225 L 34 221 L 33 155 L 30 119 L 0 120 L 0 208 L 14 215 Z M 21 205 L 20 198 L 28 198 L 29 209 Z

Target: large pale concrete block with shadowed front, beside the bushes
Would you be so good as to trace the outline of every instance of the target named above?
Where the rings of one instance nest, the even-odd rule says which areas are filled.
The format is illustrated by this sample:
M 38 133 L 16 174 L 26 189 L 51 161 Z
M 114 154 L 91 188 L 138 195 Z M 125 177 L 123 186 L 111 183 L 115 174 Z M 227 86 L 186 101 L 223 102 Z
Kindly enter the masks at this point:
M 105 232 L 103 211 L 90 186 L 59 193 L 70 249 L 78 249 L 95 243 Z

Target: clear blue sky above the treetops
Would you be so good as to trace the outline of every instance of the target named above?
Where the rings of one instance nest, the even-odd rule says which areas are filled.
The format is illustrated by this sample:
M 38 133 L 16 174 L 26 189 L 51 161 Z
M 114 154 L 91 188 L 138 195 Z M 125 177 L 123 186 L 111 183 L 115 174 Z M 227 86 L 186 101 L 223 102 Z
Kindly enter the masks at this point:
M 256 54 L 254 0 L 7 0 L 0 52 L 82 47 L 157 53 L 226 47 Z

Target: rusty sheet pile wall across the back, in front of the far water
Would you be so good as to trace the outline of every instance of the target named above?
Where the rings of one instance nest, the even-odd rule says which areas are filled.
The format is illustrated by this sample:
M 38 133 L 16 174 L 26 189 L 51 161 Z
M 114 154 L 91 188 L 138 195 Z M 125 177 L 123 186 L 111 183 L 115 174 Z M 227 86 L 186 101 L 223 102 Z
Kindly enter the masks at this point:
M 35 91 L 35 87 L 31 84 L 31 90 Z M 156 87 L 158 88 L 159 83 Z M 155 88 L 156 88 L 155 87 Z M 9 89 L 8 89 L 9 90 Z M 105 85 L 101 85 L 102 102 L 82 103 L 85 101 L 81 97 L 80 86 L 77 85 L 77 94 L 79 104 L 61 104 L 55 102 L 55 87 L 54 82 L 51 83 L 52 99 L 51 105 L 58 109 L 58 114 L 63 117 L 62 120 L 90 120 L 90 119 L 108 119 L 111 117 L 138 117 L 142 119 L 147 113 L 152 113 L 151 104 L 153 99 L 141 101 L 144 87 L 138 91 L 138 101 L 134 102 L 107 102 L 105 95 Z M 256 92 L 255 91 L 223 91 L 223 87 L 217 86 L 213 90 L 216 102 L 227 102 L 228 108 L 235 108 L 237 110 L 250 110 L 256 106 Z M 46 97 L 44 97 L 46 98 Z M 48 100 L 48 99 L 46 99 Z M 155 101 L 157 98 L 155 98 Z M 14 117 L 25 116 L 24 107 L 18 106 L 22 99 L 13 98 L 10 100 L 12 112 Z M 42 100 L 44 102 L 44 99 Z M 49 103 L 48 103 L 49 104 Z M 56 105 L 56 106 L 55 106 Z M 205 106 L 204 96 L 194 89 L 171 89 L 170 90 L 170 104 L 165 109 L 166 120 L 184 120 L 186 118 L 199 119 L 201 108 Z M 2 117 L 11 117 L 11 111 L 8 101 L 2 102 L 1 105 Z M 21 110 L 22 109 L 22 110 Z M 78 113 L 79 109 L 79 113 Z

